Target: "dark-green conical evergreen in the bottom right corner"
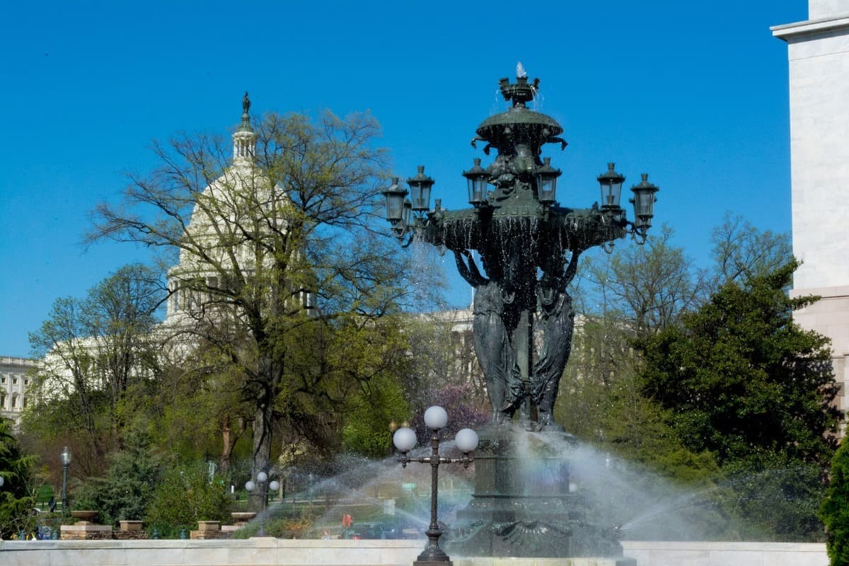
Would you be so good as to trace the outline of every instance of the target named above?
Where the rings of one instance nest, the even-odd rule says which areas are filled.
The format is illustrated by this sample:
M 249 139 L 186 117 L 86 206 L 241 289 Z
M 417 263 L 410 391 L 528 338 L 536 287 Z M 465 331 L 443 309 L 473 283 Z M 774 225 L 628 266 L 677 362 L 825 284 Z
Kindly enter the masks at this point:
M 849 444 L 843 437 L 831 461 L 829 489 L 819 518 L 825 524 L 826 547 L 832 566 L 849 564 Z

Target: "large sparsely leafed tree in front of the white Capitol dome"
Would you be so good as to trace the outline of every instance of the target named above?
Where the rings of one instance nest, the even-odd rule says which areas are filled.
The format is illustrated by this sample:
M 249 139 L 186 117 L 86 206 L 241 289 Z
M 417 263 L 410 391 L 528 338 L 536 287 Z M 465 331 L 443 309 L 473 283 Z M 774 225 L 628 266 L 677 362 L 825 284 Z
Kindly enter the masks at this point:
M 232 164 L 220 139 L 156 145 L 160 168 L 96 210 L 92 241 L 179 252 L 171 300 L 189 308 L 174 341 L 211 350 L 222 364 L 209 374 L 238 380 L 255 471 L 272 462 L 277 422 L 320 448 L 338 438 L 329 407 L 373 370 L 346 372 L 338 337 L 379 325 L 406 294 L 403 256 L 373 226 L 389 177 L 379 130 L 370 115 L 327 113 L 267 115 L 255 132 L 245 115 Z

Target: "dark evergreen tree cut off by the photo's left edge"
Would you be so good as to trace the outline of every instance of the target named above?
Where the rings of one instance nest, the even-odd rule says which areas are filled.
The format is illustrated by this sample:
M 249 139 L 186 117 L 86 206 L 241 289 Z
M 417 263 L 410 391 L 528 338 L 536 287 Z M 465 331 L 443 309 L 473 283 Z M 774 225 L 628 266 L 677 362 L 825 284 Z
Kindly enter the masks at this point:
M 12 435 L 12 421 L 0 417 L 0 536 L 8 539 L 21 530 L 31 533 L 35 504 L 31 475 L 36 457 L 25 454 Z

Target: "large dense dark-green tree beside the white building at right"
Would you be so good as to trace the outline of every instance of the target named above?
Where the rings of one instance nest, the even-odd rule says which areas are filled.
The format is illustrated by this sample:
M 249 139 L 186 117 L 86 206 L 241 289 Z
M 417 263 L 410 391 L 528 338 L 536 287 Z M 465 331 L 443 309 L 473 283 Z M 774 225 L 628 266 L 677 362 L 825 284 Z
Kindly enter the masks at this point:
M 726 283 L 680 327 L 638 343 L 644 394 L 692 450 L 721 463 L 772 453 L 828 465 L 838 386 L 828 339 L 793 322 L 816 300 L 786 294 L 797 265 Z

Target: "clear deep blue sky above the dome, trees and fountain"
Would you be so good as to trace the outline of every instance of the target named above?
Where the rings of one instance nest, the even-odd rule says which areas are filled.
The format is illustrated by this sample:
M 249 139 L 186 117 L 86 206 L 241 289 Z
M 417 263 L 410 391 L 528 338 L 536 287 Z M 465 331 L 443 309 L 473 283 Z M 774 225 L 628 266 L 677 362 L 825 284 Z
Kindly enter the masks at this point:
M 396 173 L 425 165 L 457 209 L 484 157 L 469 139 L 521 61 L 569 142 L 549 150 L 561 204 L 597 200 L 612 160 L 627 187 L 649 172 L 655 221 L 702 265 L 725 210 L 789 231 L 787 49 L 769 26 L 806 19 L 804 0 L 7 3 L 0 356 L 29 355 L 53 300 L 145 258 L 83 249 L 89 211 L 155 165 L 151 140 L 237 125 L 245 90 L 254 114 L 370 110 Z

